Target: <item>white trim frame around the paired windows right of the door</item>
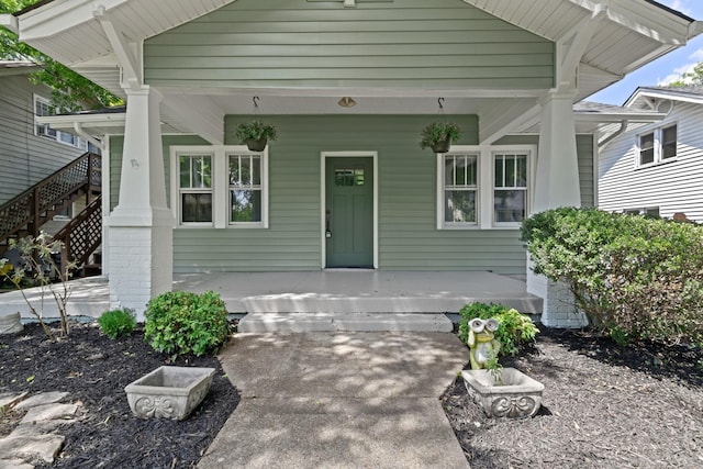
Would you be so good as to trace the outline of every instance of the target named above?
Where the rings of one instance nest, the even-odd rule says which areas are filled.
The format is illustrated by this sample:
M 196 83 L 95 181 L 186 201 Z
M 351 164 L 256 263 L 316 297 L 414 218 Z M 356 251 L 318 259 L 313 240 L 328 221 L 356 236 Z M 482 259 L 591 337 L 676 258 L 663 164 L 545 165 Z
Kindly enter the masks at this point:
M 447 153 L 478 155 L 478 191 L 477 191 L 477 223 L 445 224 L 444 221 L 444 157 L 447 154 L 437 154 L 437 230 L 518 230 L 522 223 L 495 222 L 493 220 L 493 155 L 526 153 L 527 154 L 527 197 L 525 217 L 532 215 L 532 199 L 534 197 L 535 167 L 537 159 L 536 145 L 451 145 Z

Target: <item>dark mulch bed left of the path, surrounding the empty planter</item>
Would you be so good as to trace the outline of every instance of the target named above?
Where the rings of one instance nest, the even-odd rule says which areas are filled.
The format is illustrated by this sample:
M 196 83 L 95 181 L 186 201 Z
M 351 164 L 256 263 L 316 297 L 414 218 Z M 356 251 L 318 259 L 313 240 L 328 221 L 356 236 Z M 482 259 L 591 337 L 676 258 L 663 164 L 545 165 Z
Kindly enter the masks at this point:
M 163 365 L 216 369 L 210 393 L 186 421 L 140 420 L 130 411 L 124 387 Z M 68 391 L 80 403 L 76 422 L 58 431 L 66 443 L 51 465 L 71 469 L 194 467 L 239 401 L 214 357 L 171 361 L 141 330 L 110 340 L 96 325 L 78 324 L 56 343 L 36 324 L 0 336 L 0 393 L 19 391 Z M 0 417 L 0 436 L 18 413 Z

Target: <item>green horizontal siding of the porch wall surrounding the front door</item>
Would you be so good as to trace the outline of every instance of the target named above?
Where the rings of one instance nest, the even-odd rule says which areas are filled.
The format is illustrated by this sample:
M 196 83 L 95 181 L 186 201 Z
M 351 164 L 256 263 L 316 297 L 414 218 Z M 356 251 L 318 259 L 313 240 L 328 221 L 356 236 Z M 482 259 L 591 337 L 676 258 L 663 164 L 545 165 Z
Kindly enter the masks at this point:
M 435 158 L 417 146 L 435 116 L 271 116 L 278 138 L 269 146 L 268 230 L 177 228 L 175 270 L 310 270 L 321 265 L 320 155 L 375 150 L 379 155 L 379 264 L 386 270 L 525 272 L 515 230 L 437 231 Z M 462 144 L 477 143 L 475 116 Z M 231 139 L 242 118 L 228 118 Z M 228 142 L 236 144 L 236 142 Z

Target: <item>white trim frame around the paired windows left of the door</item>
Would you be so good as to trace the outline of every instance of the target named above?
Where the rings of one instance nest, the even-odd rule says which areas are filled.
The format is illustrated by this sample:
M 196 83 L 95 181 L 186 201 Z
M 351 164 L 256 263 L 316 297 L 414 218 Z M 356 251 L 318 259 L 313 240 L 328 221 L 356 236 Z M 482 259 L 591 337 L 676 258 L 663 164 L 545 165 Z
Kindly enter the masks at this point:
M 212 160 L 212 223 L 182 223 L 180 214 L 180 168 L 178 157 L 188 155 L 211 155 Z M 230 223 L 230 155 L 261 156 L 261 221 Z M 268 147 L 264 152 L 252 152 L 245 145 L 175 145 L 170 147 L 170 205 L 178 221 L 177 228 L 268 228 L 269 226 L 269 182 Z

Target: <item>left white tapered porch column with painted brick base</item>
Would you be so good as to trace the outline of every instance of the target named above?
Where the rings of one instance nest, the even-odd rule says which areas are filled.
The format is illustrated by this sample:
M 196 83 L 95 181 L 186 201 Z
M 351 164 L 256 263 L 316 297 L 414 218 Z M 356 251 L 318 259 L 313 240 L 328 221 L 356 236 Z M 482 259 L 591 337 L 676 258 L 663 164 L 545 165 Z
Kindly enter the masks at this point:
M 146 303 L 172 284 L 174 216 L 166 205 L 159 93 L 126 89 L 119 203 L 110 214 L 110 308 L 143 320 Z

